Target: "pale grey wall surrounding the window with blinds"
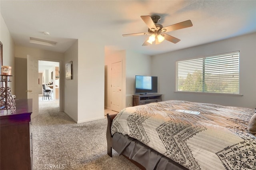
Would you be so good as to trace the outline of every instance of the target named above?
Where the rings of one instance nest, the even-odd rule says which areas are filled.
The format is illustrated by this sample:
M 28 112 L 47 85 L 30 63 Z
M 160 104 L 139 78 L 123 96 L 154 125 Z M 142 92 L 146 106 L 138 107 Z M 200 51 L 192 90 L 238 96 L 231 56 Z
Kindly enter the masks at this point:
M 174 45 L 174 44 L 170 44 Z M 176 60 L 240 51 L 240 93 L 243 96 L 175 92 Z M 186 100 L 220 105 L 256 107 L 256 33 L 155 55 L 152 73 L 158 76 L 159 93 L 166 100 Z

